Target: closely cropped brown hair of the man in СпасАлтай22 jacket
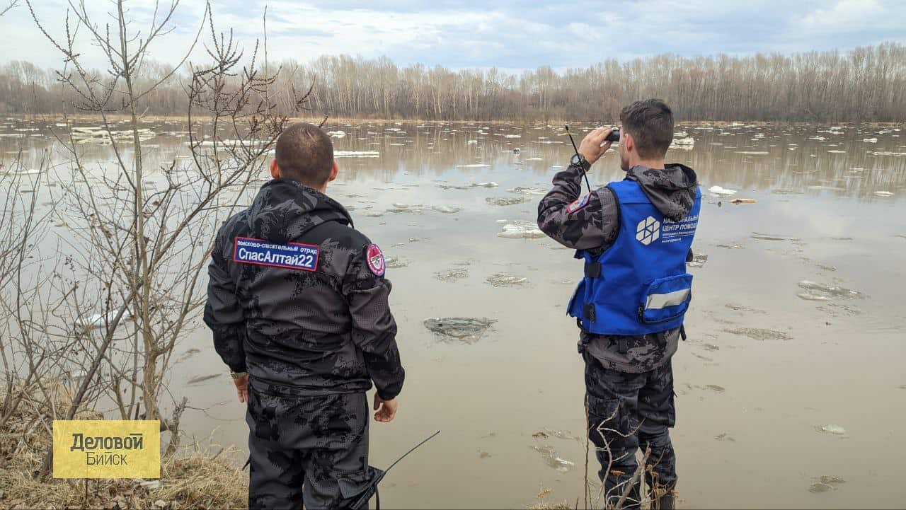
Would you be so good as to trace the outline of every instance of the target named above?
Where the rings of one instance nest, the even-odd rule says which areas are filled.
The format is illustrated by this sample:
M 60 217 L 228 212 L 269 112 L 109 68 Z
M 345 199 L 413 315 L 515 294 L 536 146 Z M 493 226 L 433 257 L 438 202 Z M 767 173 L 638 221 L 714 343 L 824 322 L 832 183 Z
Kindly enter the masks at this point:
M 314 124 L 299 122 L 286 128 L 277 137 L 275 152 L 284 178 L 320 188 L 331 177 L 333 142 Z

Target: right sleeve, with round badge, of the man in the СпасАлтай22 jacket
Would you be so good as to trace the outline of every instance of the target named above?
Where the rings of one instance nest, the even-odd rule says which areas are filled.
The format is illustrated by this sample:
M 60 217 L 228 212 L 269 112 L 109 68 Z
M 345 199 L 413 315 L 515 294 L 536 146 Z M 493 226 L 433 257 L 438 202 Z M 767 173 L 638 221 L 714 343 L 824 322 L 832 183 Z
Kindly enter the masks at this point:
M 375 274 L 367 257 L 370 246 L 352 256 L 342 283 L 342 293 L 352 317 L 352 342 L 361 349 L 368 373 L 381 399 L 395 398 L 406 377 L 397 348 L 396 321 L 390 313 L 390 280 L 381 269 Z M 382 257 L 383 255 L 381 255 Z

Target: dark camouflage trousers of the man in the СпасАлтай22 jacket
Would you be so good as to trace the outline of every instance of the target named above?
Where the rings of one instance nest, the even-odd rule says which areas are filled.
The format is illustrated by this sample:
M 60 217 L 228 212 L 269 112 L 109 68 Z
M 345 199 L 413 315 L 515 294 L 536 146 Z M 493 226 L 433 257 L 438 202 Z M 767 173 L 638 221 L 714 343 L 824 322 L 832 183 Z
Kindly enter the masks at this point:
M 365 394 L 303 397 L 270 390 L 249 385 L 248 507 L 351 505 L 371 481 Z

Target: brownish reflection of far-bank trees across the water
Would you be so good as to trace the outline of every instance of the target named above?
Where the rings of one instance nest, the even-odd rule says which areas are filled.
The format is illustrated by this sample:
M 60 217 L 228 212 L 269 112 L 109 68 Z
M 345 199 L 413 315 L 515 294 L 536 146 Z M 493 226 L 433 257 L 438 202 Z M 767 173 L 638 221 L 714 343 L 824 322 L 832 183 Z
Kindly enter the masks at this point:
M 43 150 L 49 149 L 53 163 L 59 164 L 66 154 L 54 138 L 65 136 L 65 128 L 57 124 L 48 120 L 0 122 L 3 159 L 10 161 L 21 150 L 24 168 L 35 168 Z M 77 121 L 73 126 L 93 124 Z M 150 168 L 169 165 L 188 154 L 182 123 L 148 126 L 158 135 L 144 145 Z M 344 181 L 442 178 L 467 182 L 487 175 L 487 168 L 546 177 L 554 166 L 563 166 L 572 152 L 563 127 L 545 124 L 366 122 L 324 127 L 345 133 L 333 139 L 342 156 L 338 161 Z M 573 132 L 581 137 L 593 127 L 574 124 Z M 696 168 L 708 185 L 861 200 L 898 199 L 898 192 L 906 188 L 906 139 L 901 138 L 900 128 L 697 123 L 680 125 L 678 131 L 695 140 L 694 145 L 675 146 L 668 160 Z M 204 130 L 199 132 L 202 138 L 207 136 Z M 114 158 L 109 145 L 81 143 L 77 147 L 89 165 Z M 129 159 L 130 145 L 123 148 L 122 157 Z M 593 172 L 598 181 L 618 178 L 612 151 L 603 161 L 598 165 L 601 169 Z M 886 196 L 888 193 L 892 196 Z

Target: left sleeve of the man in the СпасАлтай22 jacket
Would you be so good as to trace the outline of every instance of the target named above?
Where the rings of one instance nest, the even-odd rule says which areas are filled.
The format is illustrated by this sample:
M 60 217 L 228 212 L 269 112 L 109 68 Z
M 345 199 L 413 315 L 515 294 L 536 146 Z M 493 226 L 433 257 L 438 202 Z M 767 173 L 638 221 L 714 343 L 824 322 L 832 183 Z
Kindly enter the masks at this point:
M 226 268 L 219 234 L 211 252 L 211 263 L 207 265 L 207 275 L 205 323 L 214 332 L 214 349 L 230 370 L 244 372 L 246 317 L 236 298 L 236 283 Z

